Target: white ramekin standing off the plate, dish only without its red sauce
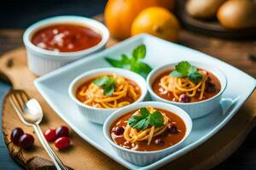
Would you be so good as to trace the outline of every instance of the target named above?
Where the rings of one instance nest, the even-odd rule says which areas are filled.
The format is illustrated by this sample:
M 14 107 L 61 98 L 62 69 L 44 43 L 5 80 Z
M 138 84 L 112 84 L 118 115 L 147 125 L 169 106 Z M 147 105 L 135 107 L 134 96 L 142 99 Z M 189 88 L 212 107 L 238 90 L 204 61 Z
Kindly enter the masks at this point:
M 36 45 L 32 44 L 31 39 L 36 31 L 46 26 L 56 24 L 79 24 L 87 26 L 93 31 L 99 33 L 102 36 L 102 41 L 92 48 L 87 48 L 77 52 L 49 51 L 44 48 L 38 48 Z M 91 20 L 81 16 L 57 16 L 41 20 L 32 26 L 29 26 L 23 35 L 23 42 L 26 46 L 28 67 L 34 74 L 42 76 L 49 71 L 53 71 L 56 68 L 61 67 L 62 65 L 66 65 L 67 63 L 73 62 L 76 59 L 80 59 L 104 48 L 108 42 L 108 38 L 108 28 L 96 20 Z

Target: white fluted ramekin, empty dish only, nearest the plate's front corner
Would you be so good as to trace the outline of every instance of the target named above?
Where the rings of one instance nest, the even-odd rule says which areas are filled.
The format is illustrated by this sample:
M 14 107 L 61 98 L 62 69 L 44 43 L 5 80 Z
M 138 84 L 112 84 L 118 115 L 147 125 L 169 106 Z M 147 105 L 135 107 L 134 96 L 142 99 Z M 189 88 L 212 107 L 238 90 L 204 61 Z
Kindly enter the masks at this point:
M 186 126 L 186 133 L 183 139 L 179 141 L 177 144 L 174 144 L 164 150 L 155 150 L 155 151 L 128 150 L 126 148 L 119 146 L 118 144 L 115 144 L 113 142 L 113 139 L 111 139 L 111 136 L 109 133 L 110 127 L 113 124 L 113 122 L 116 121 L 120 116 L 123 116 L 129 113 L 130 111 L 136 111 L 148 105 L 151 105 L 154 108 L 159 108 L 166 111 L 172 111 L 174 114 L 181 117 Z M 113 112 L 111 116 L 108 116 L 108 119 L 106 120 L 106 122 L 104 122 L 104 125 L 103 125 L 104 137 L 105 139 L 108 140 L 108 143 L 113 146 L 113 149 L 118 153 L 118 155 L 124 158 L 125 160 L 130 161 L 131 163 L 139 166 L 146 166 L 150 163 L 153 163 L 154 161 L 158 161 L 161 158 L 168 156 L 172 152 L 181 148 L 183 146 L 183 142 L 185 141 L 185 139 L 188 138 L 191 130 L 192 130 L 192 120 L 188 115 L 188 113 L 186 113 L 186 111 L 183 111 L 181 108 L 175 105 L 170 105 L 170 104 L 166 104 L 163 102 L 156 102 L 156 101 L 141 102 L 136 105 L 129 105 L 127 107 L 121 108 L 118 111 Z

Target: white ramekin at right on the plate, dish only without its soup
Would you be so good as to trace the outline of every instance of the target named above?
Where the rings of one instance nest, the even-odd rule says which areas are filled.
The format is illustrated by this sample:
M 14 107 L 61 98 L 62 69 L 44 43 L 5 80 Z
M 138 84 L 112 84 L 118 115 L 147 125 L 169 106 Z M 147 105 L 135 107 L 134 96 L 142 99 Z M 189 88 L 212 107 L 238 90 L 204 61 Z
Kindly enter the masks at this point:
M 221 96 L 224 93 L 224 89 L 227 87 L 227 79 L 222 71 L 219 71 L 217 68 L 215 68 L 212 65 L 206 65 L 200 62 L 190 62 L 191 65 L 195 65 L 197 68 L 201 68 L 206 71 L 210 71 L 215 77 L 218 78 L 218 81 L 220 82 L 221 89 L 210 99 L 202 100 L 199 102 L 193 102 L 193 103 L 180 103 L 180 102 L 174 102 L 167 99 L 163 99 L 157 94 L 154 93 L 154 90 L 152 89 L 152 84 L 156 77 L 160 76 L 161 73 L 165 71 L 170 71 L 172 68 L 177 65 L 177 63 L 163 65 L 158 68 L 155 68 L 153 71 L 151 71 L 147 78 L 147 87 L 148 92 L 150 94 L 151 99 L 154 101 L 162 101 L 169 104 L 177 105 L 178 107 L 181 107 L 184 111 L 187 111 L 189 113 L 189 116 L 192 118 L 198 118 L 201 116 L 206 116 L 208 113 L 213 111 L 220 102 Z

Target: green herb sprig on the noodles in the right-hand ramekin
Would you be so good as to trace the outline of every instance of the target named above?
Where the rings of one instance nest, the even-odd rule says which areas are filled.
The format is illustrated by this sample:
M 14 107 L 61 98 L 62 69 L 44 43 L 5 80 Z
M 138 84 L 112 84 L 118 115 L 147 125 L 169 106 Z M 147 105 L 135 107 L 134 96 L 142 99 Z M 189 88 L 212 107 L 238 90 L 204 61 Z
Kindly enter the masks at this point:
M 198 69 L 190 65 L 188 61 L 182 61 L 175 66 L 175 70 L 171 72 L 172 77 L 189 77 L 192 82 L 200 82 L 202 79 Z

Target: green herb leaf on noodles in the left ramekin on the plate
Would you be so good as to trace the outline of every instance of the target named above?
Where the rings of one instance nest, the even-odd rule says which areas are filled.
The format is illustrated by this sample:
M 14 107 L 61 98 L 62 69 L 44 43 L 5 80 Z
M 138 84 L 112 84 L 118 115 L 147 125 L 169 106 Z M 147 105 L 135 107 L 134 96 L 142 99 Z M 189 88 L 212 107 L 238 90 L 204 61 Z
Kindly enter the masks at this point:
M 111 96 L 113 94 L 115 88 L 115 82 L 113 78 L 105 76 L 97 78 L 95 81 L 93 81 L 93 83 L 96 86 L 102 87 L 104 95 Z

